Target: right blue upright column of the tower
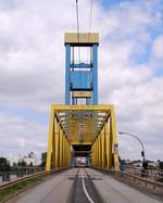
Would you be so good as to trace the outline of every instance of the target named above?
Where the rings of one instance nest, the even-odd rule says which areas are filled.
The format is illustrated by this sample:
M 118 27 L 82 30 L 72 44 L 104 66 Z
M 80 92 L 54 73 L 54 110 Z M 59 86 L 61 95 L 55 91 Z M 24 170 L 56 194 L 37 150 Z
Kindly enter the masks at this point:
M 98 45 L 92 46 L 93 104 L 98 104 Z

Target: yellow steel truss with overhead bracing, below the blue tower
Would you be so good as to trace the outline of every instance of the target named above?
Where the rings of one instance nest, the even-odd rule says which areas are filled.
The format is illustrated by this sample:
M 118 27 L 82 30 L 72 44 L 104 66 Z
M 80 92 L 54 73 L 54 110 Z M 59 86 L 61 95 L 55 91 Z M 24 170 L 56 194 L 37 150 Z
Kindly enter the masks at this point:
M 113 105 L 51 105 L 46 170 L 71 165 L 71 145 L 91 144 L 91 165 L 118 172 Z

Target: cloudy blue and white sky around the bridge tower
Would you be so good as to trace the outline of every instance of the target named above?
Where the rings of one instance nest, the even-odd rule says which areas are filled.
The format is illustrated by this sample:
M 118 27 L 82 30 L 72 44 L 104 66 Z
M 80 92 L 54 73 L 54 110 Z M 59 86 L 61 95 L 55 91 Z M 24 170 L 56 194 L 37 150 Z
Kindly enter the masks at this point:
M 90 0 L 78 2 L 88 31 Z M 0 0 L 0 155 L 47 150 L 50 105 L 64 104 L 65 31 L 76 31 L 75 0 Z M 114 104 L 117 131 L 163 160 L 163 0 L 93 0 L 91 31 L 99 104 Z M 137 140 L 118 142 L 123 158 L 141 158 Z

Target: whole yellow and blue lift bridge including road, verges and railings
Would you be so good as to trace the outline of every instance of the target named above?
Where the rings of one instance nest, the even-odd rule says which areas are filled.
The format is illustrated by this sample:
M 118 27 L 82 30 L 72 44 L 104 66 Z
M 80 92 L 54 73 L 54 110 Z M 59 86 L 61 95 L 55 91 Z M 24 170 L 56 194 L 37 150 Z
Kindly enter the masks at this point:
M 140 177 L 137 167 L 126 166 L 120 176 L 114 106 L 98 104 L 99 35 L 65 34 L 64 43 L 65 104 L 51 105 L 46 172 L 0 185 L 0 202 L 161 203 L 163 183 L 153 180 L 160 170 L 143 169 Z M 89 167 L 75 168 L 79 160 Z

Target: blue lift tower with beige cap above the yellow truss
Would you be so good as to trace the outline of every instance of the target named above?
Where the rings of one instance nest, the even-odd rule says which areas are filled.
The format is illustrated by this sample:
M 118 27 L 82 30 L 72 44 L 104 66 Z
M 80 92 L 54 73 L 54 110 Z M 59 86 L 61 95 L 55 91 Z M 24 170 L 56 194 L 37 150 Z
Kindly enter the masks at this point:
M 68 33 L 64 43 L 65 104 L 98 104 L 99 35 Z

